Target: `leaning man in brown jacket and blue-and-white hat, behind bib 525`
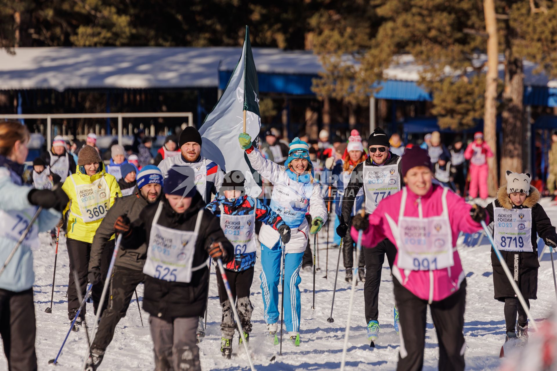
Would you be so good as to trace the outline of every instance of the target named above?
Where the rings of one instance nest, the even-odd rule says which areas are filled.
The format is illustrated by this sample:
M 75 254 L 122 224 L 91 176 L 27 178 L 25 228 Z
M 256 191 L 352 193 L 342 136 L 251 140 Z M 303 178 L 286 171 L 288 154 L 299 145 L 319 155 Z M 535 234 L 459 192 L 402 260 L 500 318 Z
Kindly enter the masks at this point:
M 128 165 L 124 165 L 128 166 Z M 131 165 L 129 165 L 131 166 Z M 121 227 L 120 215 L 126 215 L 130 220 L 130 228 L 141 224 L 139 214 L 150 204 L 160 199 L 163 185 L 163 174 L 157 166 L 147 165 L 138 174 L 137 186 L 130 197 L 119 198 L 102 219 L 96 230 L 95 239 L 91 246 L 89 260 L 89 281 L 96 284 L 101 278 L 101 261 L 106 246 L 110 247 L 110 239 Z M 131 296 L 135 288 L 143 282 L 143 266 L 147 255 L 147 244 L 133 244 L 133 241 L 122 240 L 120 250 L 114 263 L 114 270 L 110 280 L 110 299 L 108 308 L 102 314 L 95 339 L 91 343 L 92 359 L 87 362 L 87 370 L 95 370 L 104 357 L 106 348 L 112 341 L 114 330 L 120 319 L 124 318 Z

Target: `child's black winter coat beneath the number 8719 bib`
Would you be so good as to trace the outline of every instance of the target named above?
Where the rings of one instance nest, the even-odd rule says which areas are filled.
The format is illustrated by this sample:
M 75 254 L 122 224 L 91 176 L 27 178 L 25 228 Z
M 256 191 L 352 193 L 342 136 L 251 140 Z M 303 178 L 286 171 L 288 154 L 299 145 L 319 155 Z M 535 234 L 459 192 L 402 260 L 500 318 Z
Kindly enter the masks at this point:
M 532 209 L 532 252 L 531 253 L 515 253 L 514 251 L 501 251 L 501 255 L 505 260 L 511 274 L 517 273 L 516 284 L 519 286 L 524 299 L 538 298 L 538 236 L 544 240 L 551 238 L 555 241 L 555 227 L 551 225 L 551 220 L 545 213 L 544 208 L 538 204 L 540 200 L 540 192 L 534 187 L 530 187 L 530 195 L 526 197 L 524 203 L 520 206 L 512 204 L 509 195 L 507 195 L 507 186 L 500 187 L 497 191 L 496 207 L 504 207 L 505 209 Z M 490 220 L 494 220 L 493 203 L 487 205 L 486 211 L 490 216 Z M 516 264 L 516 266 L 515 266 Z M 495 299 L 505 301 L 505 298 L 515 298 L 515 291 L 512 289 L 511 283 L 505 271 L 503 270 L 495 251 L 491 250 L 491 265 L 493 267 L 493 283 L 495 290 Z

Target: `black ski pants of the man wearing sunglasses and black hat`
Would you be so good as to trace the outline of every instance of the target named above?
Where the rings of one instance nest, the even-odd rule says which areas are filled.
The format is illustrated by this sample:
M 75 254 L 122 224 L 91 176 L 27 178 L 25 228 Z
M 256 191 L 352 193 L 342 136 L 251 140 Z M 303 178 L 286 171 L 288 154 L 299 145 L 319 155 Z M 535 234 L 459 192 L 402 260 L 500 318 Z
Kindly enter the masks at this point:
M 394 258 L 397 256 L 397 248 L 388 239 L 384 239 L 374 248 L 363 248 L 365 260 L 365 283 L 364 283 L 364 304 L 365 304 L 365 321 L 377 321 L 379 316 L 378 300 L 379 285 L 381 284 L 381 272 L 385 261 L 387 261 L 392 269 Z M 400 310 L 400 309 L 399 309 Z

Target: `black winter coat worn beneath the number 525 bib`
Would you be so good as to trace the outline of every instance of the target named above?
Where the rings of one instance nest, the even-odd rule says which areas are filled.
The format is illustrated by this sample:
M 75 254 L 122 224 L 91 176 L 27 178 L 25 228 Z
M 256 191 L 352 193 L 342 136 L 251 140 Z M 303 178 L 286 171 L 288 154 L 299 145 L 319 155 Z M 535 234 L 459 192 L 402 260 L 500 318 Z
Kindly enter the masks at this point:
M 166 197 L 162 196 L 163 209 L 157 224 L 164 227 L 193 231 L 196 226 L 199 209 L 205 208 L 205 202 L 199 192 L 193 196 L 192 205 L 182 214 L 177 214 L 168 204 Z M 157 212 L 159 202 L 145 207 L 139 218 L 141 225 L 133 229 L 129 239 L 138 239 L 135 244 L 149 241 L 153 219 Z M 222 243 L 228 256 L 234 256 L 232 244 L 224 236 L 220 220 L 211 211 L 204 210 L 201 219 L 201 229 L 196 241 L 196 251 L 193 255 L 192 266 L 199 266 L 209 258 L 207 248 L 214 242 Z M 145 291 L 143 309 L 149 314 L 158 316 L 167 321 L 178 317 L 203 316 L 207 304 L 209 291 L 209 269 L 202 268 L 192 272 L 189 283 L 169 282 L 145 275 Z

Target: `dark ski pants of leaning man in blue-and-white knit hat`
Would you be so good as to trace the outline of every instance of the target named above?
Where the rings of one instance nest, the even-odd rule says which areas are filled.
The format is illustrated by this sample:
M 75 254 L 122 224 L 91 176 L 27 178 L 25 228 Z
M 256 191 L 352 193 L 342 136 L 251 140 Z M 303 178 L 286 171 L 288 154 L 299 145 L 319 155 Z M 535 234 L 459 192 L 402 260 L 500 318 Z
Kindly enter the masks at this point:
M 102 313 L 91 349 L 106 350 L 114 337 L 118 322 L 126 316 L 135 288 L 143 282 L 143 271 L 115 266 L 110 278 L 110 299 Z

